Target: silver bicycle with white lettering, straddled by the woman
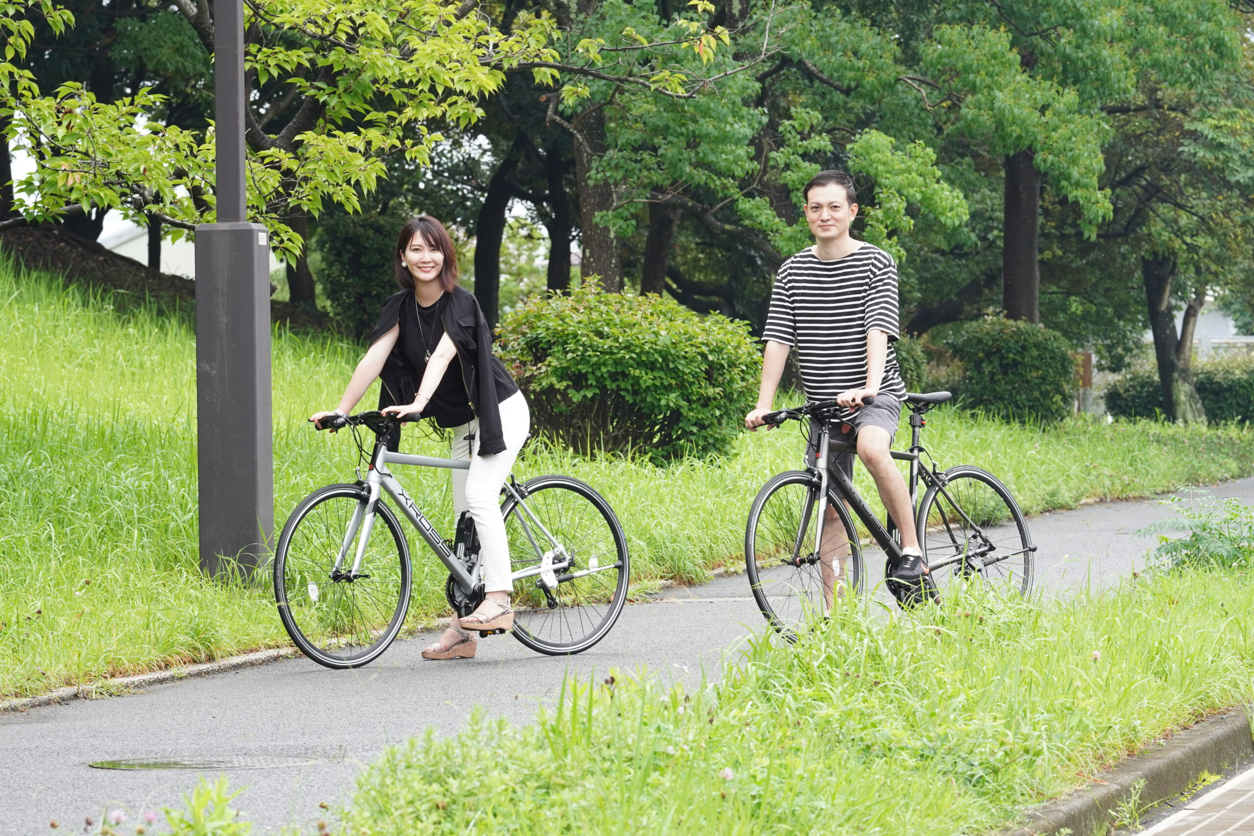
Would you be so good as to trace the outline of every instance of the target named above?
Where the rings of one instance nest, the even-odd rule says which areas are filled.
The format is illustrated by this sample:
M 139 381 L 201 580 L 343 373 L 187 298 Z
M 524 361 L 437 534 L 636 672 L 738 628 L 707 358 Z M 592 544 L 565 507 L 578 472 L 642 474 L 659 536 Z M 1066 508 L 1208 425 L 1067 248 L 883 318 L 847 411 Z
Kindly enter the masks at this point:
M 354 484 L 320 488 L 287 519 L 275 553 L 275 600 L 305 656 L 329 668 L 357 668 L 377 659 L 401 632 L 413 588 L 409 544 L 384 495 L 448 569 L 444 594 L 453 610 L 468 615 L 483 600 L 474 521 L 463 514 L 454 539 L 445 540 L 387 469 L 465 470 L 470 462 L 389 450 L 384 439 L 399 422 L 381 412 L 331 416 L 321 424 L 352 430 L 362 457 L 360 431 L 370 430 L 374 450 L 365 479 L 359 469 Z M 601 494 L 571 476 L 519 484 L 510 475 L 502 493 L 514 638 L 549 656 L 587 651 L 606 637 L 627 600 L 631 560 L 618 518 Z

